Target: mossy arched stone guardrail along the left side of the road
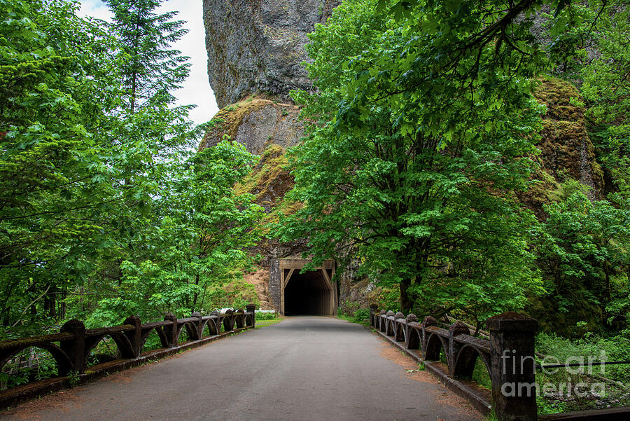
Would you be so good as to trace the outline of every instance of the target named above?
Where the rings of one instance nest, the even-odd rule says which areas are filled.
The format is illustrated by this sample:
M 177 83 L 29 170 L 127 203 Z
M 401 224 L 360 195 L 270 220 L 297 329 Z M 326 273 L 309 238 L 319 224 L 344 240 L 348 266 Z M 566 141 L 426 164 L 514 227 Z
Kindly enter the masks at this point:
M 246 310 L 227 310 L 223 313 L 214 311 L 207 316 L 194 312 L 186 319 L 178 319 L 169 313 L 160 322 L 145 324 L 141 323 L 139 317 L 130 316 L 120 326 L 99 329 L 85 329 L 83 322 L 72 319 L 59 329 L 59 333 L 0 341 L 0 368 L 18 352 L 30 347 L 38 347 L 50 352 L 52 358 L 55 359 L 59 377 L 68 376 L 71 373 L 83 375 L 87 369 L 87 359 L 90 353 L 106 336 L 111 337 L 116 343 L 120 359 L 140 360 L 143 356 L 144 344 L 152 331 L 158 333 L 162 348 L 179 347 L 179 339 L 183 329 L 186 329 L 188 333 L 187 344 L 205 343 L 235 331 L 253 329 L 255 327 L 254 310 L 255 305 L 249 304 L 246 306 Z M 221 326 L 223 326 L 223 333 Z M 204 329 L 206 328 L 209 336 L 204 336 Z M 170 353 L 156 352 L 155 354 L 159 357 Z M 123 365 L 123 368 L 127 368 L 134 364 Z M 11 389 L 8 389 L 8 391 L 2 392 L 2 395 L 10 394 L 10 392 Z M 2 398 L 0 401 L 4 401 L 4 396 L 0 397 Z

